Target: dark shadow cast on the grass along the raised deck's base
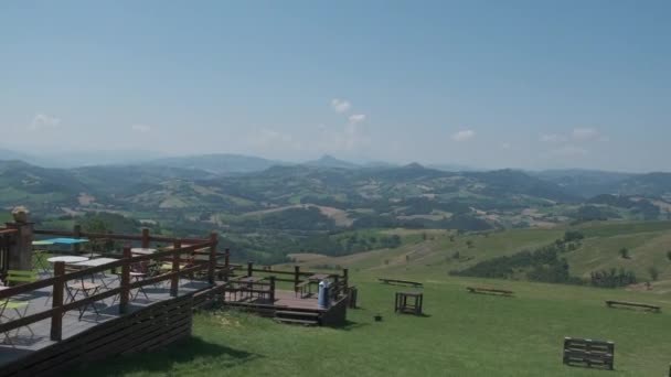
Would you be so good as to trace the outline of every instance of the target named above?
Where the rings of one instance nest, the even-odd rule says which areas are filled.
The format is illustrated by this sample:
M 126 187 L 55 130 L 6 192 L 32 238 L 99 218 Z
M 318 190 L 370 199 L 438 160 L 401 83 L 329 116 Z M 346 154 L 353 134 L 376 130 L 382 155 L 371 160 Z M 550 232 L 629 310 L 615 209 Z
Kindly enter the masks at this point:
M 263 357 L 246 351 L 209 343 L 191 336 L 159 352 L 138 353 L 131 356 L 113 356 L 95 364 L 82 365 L 66 376 L 123 376 L 134 371 L 170 375 L 179 365 L 194 363 L 211 364 L 213 368 L 228 368 Z M 204 362 L 204 363 L 203 363 Z

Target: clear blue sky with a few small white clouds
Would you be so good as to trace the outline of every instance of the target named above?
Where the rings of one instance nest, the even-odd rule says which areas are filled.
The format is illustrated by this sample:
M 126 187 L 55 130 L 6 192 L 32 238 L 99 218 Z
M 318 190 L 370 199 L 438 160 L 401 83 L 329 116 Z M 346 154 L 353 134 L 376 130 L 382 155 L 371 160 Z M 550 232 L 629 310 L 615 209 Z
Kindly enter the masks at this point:
M 668 0 L 1 1 L 0 148 L 670 171 L 670 13 Z

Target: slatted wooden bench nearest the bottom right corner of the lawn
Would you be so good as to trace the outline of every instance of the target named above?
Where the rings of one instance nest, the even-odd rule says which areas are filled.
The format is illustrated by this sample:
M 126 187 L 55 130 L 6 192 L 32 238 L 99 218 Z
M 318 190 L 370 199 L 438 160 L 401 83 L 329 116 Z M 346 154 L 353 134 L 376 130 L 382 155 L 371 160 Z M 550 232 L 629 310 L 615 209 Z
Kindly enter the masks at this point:
M 615 343 L 593 340 L 564 337 L 564 364 L 583 364 L 605 367 L 613 370 Z

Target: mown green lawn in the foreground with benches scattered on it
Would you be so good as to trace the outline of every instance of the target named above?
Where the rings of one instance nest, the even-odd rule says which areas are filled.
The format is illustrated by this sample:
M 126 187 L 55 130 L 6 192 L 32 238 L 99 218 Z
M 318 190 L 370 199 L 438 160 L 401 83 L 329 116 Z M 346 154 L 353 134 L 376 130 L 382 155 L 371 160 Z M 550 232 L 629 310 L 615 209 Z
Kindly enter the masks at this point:
M 96 365 L 97 376 L 599 376 L 565 367 L 566 335 L 616 342 L 615 376 L 662 375 L 669 314 L 606 309 L 606 298 L 670 308 L 651 293 L 565 286 L 446 279 L 425 288 L 426 317 L 392 313 L 397 288 L 356 277 L 362 309 L 343 330 L 278 325 L 246 315 L 200 314 L 194 337 L 151 357 Z M 469 294 L 498 284 L 515 298 Z M 643 297 L 641 297 L 641 294 Z M 381 313 L 382 323 L 372 316 Z M 320 356 L 327 355 L 327 356 Z M 78 375 L 85 376 L 87 371 Z

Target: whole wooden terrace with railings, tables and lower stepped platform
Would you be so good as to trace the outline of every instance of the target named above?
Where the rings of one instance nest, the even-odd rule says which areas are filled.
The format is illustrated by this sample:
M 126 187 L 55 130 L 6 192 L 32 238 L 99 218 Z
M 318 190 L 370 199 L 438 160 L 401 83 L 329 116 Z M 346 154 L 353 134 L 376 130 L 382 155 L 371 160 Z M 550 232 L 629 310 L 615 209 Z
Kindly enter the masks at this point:
M 234 265 L 217 250 L 219 236 L 175 238 L 150 235 L 38 230 L 32 224 L 0 228 L 0 279 L 15 269 L 17 254 L 32 245 L 32 236 L 123 241 L 123 252 L 103 252 L 109 262 L 72 269 L 53 263 L 53 276 L 0 287 L 0 377 L 57 375 L 82 363 L 114 355 L 150 352 L 191 335 L 193 311 L 213 304 L 246 310 L 278 321 L 339 325 L 347 313 L 348 272 L 328 274 L 332 304 L 320 308 L 313 295 L 298 295 L 296 287 L 316 272 L 273 270 L 253 263 Z M 29 243 L 30 241 L 30 243 Z M 132 246 L 155 252 L 134 255 Z M 73 254 L 77 254 L 73 247 Z M 31 252 L 32 254 L 32 252 Z M 94 259 L 95 260 L 95 259 Z M 160 266 L 137 276 L 138 266 Z M 116 271 L 114 273 L 113 271 Z M 72 294 L 71 288 L 96 286 Z M 94 283 L 95 282 L 95 283 Z M 294 290 L 277 289 L 286 284 Z M 14 310 L 10 303 L 26 303 Z

